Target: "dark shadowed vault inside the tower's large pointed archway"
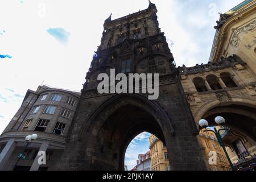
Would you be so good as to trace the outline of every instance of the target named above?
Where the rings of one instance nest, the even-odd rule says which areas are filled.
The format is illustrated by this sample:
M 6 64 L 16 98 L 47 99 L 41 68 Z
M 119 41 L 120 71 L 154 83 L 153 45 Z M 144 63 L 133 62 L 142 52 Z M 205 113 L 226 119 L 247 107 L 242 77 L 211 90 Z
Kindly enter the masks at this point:
M 163 126 L 152 114 L 146 108 L 134 104 L 125 104 L 115 109 L 97 132 L 97 160 L 101 163 L 95 165 L 97 169 L 124 170 L 126 149 L 143 132 L 154 134 L 165 143 Z M 148 146 L 149 143 L 147 151 Z

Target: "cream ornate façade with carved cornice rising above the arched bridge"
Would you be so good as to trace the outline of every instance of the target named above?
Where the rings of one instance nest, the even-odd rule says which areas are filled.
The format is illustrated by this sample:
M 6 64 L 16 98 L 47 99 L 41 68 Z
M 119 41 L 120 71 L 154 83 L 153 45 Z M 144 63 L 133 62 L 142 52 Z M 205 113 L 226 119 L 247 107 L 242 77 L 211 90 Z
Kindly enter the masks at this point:
M 214 37 L 210 61 L 237 55 L 256 73 L 256 1 L 246 0 L 221 15 Z

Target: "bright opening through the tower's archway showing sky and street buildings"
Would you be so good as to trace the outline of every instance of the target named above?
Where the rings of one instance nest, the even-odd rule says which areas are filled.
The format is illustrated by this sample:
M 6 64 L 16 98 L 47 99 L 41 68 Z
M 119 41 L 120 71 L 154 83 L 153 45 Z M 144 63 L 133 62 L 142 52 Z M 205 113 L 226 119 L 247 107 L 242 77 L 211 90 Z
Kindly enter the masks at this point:
M 124 168 L 129 171 L 170 171 L 166 144 L 147 132 L 137 135 L 126 149 Z

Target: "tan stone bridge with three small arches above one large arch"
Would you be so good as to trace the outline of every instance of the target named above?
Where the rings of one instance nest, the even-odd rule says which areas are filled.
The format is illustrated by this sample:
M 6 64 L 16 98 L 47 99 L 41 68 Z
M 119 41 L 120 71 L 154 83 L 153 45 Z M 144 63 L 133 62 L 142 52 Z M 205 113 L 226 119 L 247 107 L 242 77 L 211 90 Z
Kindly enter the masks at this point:
M 234 55 L 218 64 L 180 68 L 180 78 L 197 127 L 200 119 L 214 126 L 215 117 L 224 117 L 222 127 L 229 132 L 222 137 L 229 157 L 237 169 L 249 168 L 256 159 L 255 74 Z M 208 151 L 205 155 L 209 158 Z

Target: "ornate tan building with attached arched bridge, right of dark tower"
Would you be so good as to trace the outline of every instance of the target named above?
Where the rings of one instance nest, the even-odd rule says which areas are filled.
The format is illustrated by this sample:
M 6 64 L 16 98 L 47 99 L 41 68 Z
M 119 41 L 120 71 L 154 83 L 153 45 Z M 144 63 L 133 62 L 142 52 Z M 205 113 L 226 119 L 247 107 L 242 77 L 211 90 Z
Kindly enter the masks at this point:
M 256 1 L 221 14 L 214 28 L 209 63 L 179 67 L 181 84 L 198 127 L 200 119 L 214 126 L 217 115 L 225 118 L 228 154 L 237 169 L 246 169 L 256 159 Z

